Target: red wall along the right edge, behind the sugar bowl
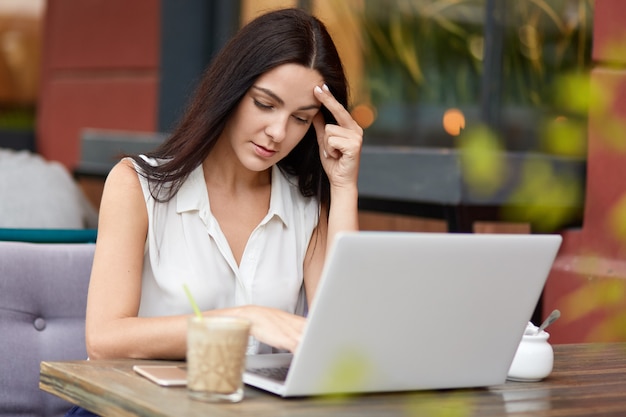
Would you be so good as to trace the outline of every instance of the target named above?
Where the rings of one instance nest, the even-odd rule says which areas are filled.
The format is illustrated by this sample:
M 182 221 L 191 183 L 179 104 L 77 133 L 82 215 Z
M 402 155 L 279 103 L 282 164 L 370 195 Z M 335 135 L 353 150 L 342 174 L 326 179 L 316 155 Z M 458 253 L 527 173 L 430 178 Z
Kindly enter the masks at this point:
M 626 1 L 596 0 L 593 58 L 583 227 L 563 233 L 544 293 L 562 313 L 553 343 L 626 341 Z

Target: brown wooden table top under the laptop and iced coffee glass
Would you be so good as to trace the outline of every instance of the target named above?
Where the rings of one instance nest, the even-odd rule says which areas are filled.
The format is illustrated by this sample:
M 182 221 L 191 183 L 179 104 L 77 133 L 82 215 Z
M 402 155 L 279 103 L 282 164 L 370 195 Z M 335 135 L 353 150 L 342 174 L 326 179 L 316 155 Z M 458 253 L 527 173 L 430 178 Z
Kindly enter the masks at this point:
M 480 389 L 282 399 L 247 387 L 241 403 L 208 404 L 136 375 L 132 365 L 155 362 L 138 360 L 42 362 L 40 388 L 103 416 L 626 415 L 626 343 L 554 351 L 554 371 L 544 381 Z

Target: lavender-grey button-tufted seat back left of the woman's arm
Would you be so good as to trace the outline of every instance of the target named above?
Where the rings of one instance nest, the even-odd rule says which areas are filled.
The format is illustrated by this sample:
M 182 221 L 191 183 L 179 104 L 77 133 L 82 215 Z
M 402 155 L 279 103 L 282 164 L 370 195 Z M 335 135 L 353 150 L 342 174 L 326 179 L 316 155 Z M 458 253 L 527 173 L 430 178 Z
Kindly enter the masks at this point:
M 87 357 L 94 248 L 0 242 L 0 416 L 62 416 L 71 406 L 39 389 L 39 364 Z

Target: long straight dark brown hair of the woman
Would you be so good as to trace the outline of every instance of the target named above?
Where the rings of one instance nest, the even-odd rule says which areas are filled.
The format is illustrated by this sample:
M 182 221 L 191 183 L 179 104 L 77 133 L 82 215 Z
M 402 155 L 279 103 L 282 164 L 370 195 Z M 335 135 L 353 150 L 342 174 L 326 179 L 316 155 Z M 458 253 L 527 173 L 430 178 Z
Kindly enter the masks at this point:
M 228 118 L 264 73 L 283 64 L 317 70 L 331 93 L 348 106 L 348 86 L 337 49 L 324 24 L 300 9 L 264 14 L 226 44 L 203 75 L 195 96 L 172 135 L 146 156 L 161 160 L 158 166 L 133 159 L 151 184 L 152 196 L 170 200 L 189 174 L 202 164 L 222 133 Z M 326 123 L 336 123 L 322 106 Z M 322 168 L 315 128 L 309 128 L 279 168 L 298 179 L 305 197 L 330 204 L 330 185 Z

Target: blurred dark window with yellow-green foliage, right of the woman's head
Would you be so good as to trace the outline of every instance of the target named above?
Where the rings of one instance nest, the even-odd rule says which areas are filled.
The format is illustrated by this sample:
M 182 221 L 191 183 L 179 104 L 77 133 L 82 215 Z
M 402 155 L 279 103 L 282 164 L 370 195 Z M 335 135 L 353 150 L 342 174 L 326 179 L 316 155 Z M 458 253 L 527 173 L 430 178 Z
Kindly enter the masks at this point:
M 378 0 L 355 12 L 375 144 L 455 147 L 440 120 L 459 108 L 505 149 L 584 156 L 593 0 Z

